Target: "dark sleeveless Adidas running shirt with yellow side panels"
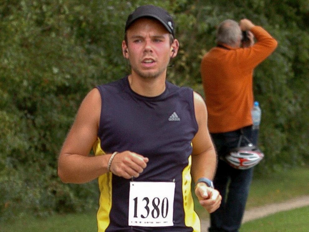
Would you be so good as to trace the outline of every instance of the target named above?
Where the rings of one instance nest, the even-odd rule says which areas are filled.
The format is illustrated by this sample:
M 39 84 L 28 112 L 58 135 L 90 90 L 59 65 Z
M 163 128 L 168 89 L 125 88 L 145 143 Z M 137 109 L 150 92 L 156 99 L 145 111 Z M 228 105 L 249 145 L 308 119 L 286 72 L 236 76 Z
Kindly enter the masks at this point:
M 173 227 L 128 226 L 130 181 L 99 177 L 98 231 L 199 231 L 191 194 L 192 139 L 198 127 L 193 90 L 166 81 L 165 91 L 145 97 L 131 90 L 128 77 L 97 86 L 102 98 L 95 155 L 133 151 L 149 158 L 134 181 L 175 182 Z M 193 229 L 194 228 L 194 229 Z

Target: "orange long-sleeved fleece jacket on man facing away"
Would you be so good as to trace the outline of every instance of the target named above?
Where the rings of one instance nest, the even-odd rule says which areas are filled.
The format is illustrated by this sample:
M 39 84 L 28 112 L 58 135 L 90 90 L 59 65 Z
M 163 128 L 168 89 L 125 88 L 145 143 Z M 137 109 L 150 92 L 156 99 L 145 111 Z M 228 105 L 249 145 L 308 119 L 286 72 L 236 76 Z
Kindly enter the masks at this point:
M 212 48 L 202 59 L 201 75 L 211 133 L 234 131 L 252 125 L 253 70 L 277 47 L 262 27 L 251 32 L 256 43 L 248 48 Z

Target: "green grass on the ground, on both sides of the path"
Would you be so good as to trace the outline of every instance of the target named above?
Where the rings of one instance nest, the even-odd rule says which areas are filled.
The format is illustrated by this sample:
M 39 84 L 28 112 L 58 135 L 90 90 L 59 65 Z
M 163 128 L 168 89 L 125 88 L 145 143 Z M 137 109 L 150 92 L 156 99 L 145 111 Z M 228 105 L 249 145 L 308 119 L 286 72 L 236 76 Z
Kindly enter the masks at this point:
M 269 175 L 263 179 L 254 179 L 249 193 L 247 209 L 255 206 L 282 202 L 296 196 L 309 195 L 308 176 L 309 169 L 302 168 L 281 171 Z M 208 218 L 208 213 L 206 210 L 203 210 L 199 205 L 196 205 L 196 210 L 201 218 Z M 242 226 L 241 231 L 308 231 L 309 220 L 306 217 L 306 215 L 309 215 L 308 211 L 309 207 L 305 207 L 302 209 L 281 212 L 264 219 L 247 222 Z M 304 222 L 303 224 L 302 221 Z M 259 230 L 263 228 L 263 226 L 264 230 Z M 302 226 L 305 226 L 307 230 L 303 230 Z M 271 227 L 274 227 L 275 229 L 269 230 L 268 228 Z M 297 230 L 287 230 L 287 228 L 297 228 Z M 0 225 L 1 232 L 93 232 L 96 230 L 96 212 L 52 215 L 47 218 L 37 218 L 26 215 L 15 222 L 7 222 Z

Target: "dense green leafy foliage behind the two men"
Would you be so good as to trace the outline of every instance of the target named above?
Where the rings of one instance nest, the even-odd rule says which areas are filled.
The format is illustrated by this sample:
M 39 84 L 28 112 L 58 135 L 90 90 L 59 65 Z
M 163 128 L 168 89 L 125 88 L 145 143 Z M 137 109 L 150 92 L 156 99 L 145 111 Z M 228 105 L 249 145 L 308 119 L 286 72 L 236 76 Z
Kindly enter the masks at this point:
M 216 26 L 247 17 L 277 40 L 277 50 L 254 72 L 263 115 L 256 172 L 308 163 L 309 36 L 305 0 L 0 2 L 0 220 L 95 208 L 97 184 L 67 185 L 57 156 L 78 106 L 95 85 L 130 68 L 121 54 L 127 15 L 142 4 L 175 17 L 178 56 L 169 81 L 203 95 L 199 66 L 215 46 Z

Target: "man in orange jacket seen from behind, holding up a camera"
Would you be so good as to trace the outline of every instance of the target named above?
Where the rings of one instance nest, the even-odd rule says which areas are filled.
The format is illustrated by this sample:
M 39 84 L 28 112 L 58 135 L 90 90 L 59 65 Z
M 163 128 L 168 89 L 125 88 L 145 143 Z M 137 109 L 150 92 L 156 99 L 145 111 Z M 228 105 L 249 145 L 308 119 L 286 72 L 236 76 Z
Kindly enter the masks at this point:
M 249 40 L 241 42 L 242 31 Z M 277 47 L 276 40 L 262 27 L 243 19 L 238 24 L 225 20 L 218 27 L 217 46 L 202 59 L 201 75 L 208 109 L 208 126 L 219 158 L 237 147 L 243 133 L 255 145 L 252 130 L 253 70 Z M 254 43 L 253 36 L 257 42 Z M 234 169 L 219 159 L 214 185 L 223 199 L 211 214 L 209 231 L 238 231 L 245 210 L 253 168 Z

